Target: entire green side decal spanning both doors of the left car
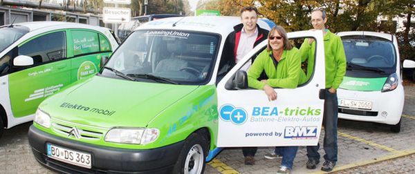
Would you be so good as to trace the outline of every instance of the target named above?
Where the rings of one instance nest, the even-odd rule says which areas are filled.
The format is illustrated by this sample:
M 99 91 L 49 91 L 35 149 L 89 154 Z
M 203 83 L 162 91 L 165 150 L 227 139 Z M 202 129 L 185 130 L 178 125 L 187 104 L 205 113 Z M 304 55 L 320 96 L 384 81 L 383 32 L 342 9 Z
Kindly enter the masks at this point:
M 53 30 L 36 35 L 19 44 L 25 46 L 40 37 L 63 32 L 66 36 L 64 55 L 52 62 L 45 62 L 9 75 L 10 104 L 14 117 L 24 117 L 35 113 L 37 106 L 48 96 L 62 90 L 74 81 L 89 78 L 98 72 L 102 56 L 111 56 L 111 44 L 104 35 L 88 29 Z M 60 54 L 59 52 L 59 54 Z M 29 55 L 30 56 L 30 55 Z M 44 55 L 42 55 L 44 57 Z M 35 57 L 33 57 L 35 59 Z M 44 58 L 42 58 L 44 59 Z M 36 64 L 36 59 L 34 60 Z

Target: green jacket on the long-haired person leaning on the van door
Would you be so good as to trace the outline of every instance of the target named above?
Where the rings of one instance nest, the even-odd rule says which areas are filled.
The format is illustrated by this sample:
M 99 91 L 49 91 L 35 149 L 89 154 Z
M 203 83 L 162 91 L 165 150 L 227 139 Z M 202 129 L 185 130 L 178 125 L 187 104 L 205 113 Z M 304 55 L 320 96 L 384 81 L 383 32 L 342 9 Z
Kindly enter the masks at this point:
M 297 88 L 299 72 L 301 71 L 301 59 L 298 49 L 284 50 L 277 65 L 277 70 L 271 57 L 272 51 L 264 50 L 248 70 L 248 86 L 250 88 L 264 89 L 265 83 L 257 78 L 265 70 L 268 76 L 268 85 L 279 88 Z

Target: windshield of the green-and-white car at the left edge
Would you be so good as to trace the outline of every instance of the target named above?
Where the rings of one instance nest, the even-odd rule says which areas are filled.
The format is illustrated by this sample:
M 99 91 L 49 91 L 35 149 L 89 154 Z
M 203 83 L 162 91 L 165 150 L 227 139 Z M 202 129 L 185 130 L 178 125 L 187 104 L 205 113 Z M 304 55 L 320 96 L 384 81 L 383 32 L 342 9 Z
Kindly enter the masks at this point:
M 26 33 L 27 31 L 19 28 L 0 28 L 0 52 L 8 48 L 8 46 L 17 41 L 17 39 L 20 39 L 20 37 Z

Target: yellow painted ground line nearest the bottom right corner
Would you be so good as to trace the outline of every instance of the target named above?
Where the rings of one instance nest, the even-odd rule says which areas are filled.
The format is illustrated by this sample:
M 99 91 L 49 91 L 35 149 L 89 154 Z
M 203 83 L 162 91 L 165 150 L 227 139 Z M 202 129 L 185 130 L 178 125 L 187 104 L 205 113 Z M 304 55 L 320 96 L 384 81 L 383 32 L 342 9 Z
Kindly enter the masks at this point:
M 356 168 L 356 167 L 359 167 L 359 166 L 366 166 L 366 165 L 369 165 L 369 164 L 384 162 L 384 161 L 387 161 L 387 160 L 392 160 L 392 159 L 395 159 L 395 158 L 398 158 L 398 157 L 405 157 L 407 155 L 412 155 L 412 154 L 415 154 L 415 149 L 408 150 L 408 151 L 398 151 L 398 153 L 393 153 L 391 155 L 386 155 L 386 156 L 383 156 L 383 157 L 379 157 L 375 160 L 365 160 L 365 161 L 360 161 L 360 162 L 356 162 L 356 163 L 346 164 L 346 165 L 343 165 L 343 166 L 338 166 L 338 167 L 333 168 L 333 171 L 331 171 L 331 172 L 344 171 L 344 170 L 347 170 L 347 169 L 350 169 L 350 168 Z M 313 172 L 313 173 L 314 174 L 320 174 L 320 173 L 325 173 L 325 172 L 324 171 L 317 171 L 317 172 Z

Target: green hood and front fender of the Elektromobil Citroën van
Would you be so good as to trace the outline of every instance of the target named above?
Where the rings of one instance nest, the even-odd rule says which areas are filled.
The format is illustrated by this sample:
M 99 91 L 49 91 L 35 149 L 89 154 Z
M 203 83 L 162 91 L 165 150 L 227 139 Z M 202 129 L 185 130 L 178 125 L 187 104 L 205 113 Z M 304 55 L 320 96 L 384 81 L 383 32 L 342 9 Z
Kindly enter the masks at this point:
M 82 88 L 79 88 L 80 86 Z M 129 91 L 128 95 L 125 91 Z M 68 95 L 69 93 L 71 95 Z M 94 96 L 103 93 L 111 100 L 96 103 Z M 79 100 L 80 97 L 82 100 Z M 121 105 L 114 105 L 115 103 Z M 55 97 L 46 99 L 39 108 L 50 113 L 59 113 L 52 119 L 55 124 L 69 127 L 76 125 L 77 128 L 101 135 L 96 139 L 76 139 L 35 124 L 37 128 L 59 137 L 100 146 L 131 149 L 158 148 L 183 141 L 201 125 L 208 128 L 212 136 L 217 135 L 218 113 L 214 85 L 155 84 L 94 76 L 84 80 L 83 83 L 77 82 L 71 85 L 61 93 L 57 93 Z M 113 127 L 159 128 L 160 135 L 151 144 L 105 142 L 104 136 Z M 212 149 L 216 147 L 214 144 L 216 142 L 212 141 Z

